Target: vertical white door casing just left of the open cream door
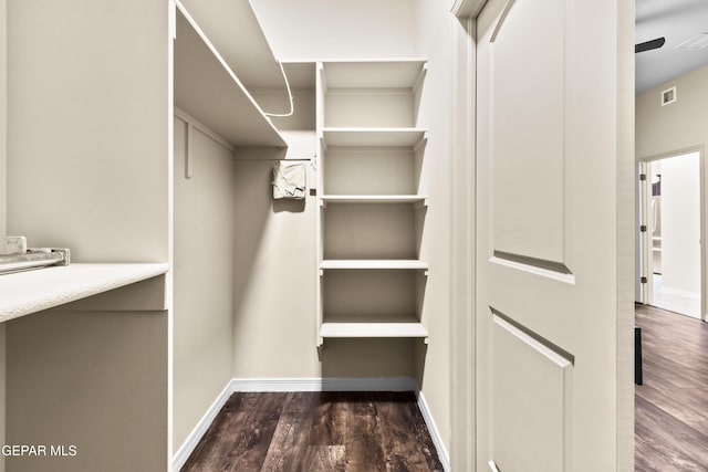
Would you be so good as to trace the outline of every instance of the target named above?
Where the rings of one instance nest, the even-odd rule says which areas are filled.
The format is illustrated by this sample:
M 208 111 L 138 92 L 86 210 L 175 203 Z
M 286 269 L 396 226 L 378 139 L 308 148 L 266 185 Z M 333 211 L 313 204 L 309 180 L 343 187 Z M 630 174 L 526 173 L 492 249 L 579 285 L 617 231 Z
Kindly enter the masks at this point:
M 475 469 L 476 21 L 451 18 L 454 99 L 450 166 L 450 466 Z

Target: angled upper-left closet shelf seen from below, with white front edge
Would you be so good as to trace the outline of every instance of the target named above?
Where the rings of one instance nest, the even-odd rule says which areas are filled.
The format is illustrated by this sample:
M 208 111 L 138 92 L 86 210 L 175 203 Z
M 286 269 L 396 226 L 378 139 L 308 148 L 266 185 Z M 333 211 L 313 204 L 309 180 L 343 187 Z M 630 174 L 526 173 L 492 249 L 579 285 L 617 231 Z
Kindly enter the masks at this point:
M 235 147 L 287 147 L 278 129 L 179 3 L 175 105 Z

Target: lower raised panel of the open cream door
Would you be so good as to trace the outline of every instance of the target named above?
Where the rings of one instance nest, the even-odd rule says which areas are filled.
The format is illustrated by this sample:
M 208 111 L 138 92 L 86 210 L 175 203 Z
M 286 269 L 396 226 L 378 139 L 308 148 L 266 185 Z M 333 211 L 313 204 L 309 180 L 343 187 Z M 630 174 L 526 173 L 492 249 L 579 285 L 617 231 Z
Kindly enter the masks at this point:
M 501 471 L 568 471 L 573 356 L 518 326 L 492 308 L 492 461 Z

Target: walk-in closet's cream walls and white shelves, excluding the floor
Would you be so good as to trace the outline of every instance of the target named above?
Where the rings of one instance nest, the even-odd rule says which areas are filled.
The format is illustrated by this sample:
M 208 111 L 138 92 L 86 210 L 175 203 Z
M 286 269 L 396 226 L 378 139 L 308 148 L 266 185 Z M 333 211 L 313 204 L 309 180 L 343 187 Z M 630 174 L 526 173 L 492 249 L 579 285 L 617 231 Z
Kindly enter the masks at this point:
M 0 23 L 0 232 L 71 254 L 0 275 L 2 443 L 46 447 L 0 470 L 178 470 L 231 394 L 294 390 L 414 391 L 449 461 L 448 7 Z

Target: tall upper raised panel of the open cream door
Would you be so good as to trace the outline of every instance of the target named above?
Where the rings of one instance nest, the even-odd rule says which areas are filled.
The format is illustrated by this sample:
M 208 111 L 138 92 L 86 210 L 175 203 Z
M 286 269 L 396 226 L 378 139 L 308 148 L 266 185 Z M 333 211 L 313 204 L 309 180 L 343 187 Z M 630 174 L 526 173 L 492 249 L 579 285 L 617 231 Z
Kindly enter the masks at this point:
M 563 274 L 574 217 L 566 9 L 562 0 L 506 3 L 489 44 L 488 108 L 490 250 Z

